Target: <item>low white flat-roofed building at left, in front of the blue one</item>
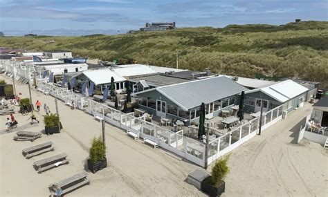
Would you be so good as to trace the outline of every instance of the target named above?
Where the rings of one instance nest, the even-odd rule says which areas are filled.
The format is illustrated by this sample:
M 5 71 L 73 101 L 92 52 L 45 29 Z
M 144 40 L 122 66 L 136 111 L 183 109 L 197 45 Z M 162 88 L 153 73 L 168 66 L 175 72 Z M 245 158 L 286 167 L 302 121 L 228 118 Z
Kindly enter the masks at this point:
M 42 65 L 45 70 L 53 72 L 53 75 L 62 75 L 63 73 L 74 73 L 88 70 L 88 64 L 52 64 Z

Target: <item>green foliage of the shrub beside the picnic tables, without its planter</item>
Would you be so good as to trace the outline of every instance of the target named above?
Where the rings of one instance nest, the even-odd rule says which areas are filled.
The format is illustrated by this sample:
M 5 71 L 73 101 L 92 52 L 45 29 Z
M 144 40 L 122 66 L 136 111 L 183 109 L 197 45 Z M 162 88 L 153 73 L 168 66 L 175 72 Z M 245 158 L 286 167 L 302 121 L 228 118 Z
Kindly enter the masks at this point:
M 106 147 L 100 136 L 99 138 L 93 138 L 89 149 L 89 156 L 93 163 L 99 162 L 106 157 Z

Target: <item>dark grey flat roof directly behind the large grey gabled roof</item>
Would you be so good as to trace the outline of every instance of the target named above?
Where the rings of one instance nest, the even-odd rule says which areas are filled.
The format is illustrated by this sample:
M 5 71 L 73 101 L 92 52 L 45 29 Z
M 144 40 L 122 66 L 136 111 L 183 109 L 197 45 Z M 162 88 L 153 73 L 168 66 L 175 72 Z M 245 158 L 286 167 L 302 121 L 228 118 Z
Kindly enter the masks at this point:
M 129 81 L 131 81 L 131 82 L 139 82 L 141 80 L 145 80 L 147 82 L 147 84 L 149 84 L 150 86 L 155 86 L 155 87 L 189 82 L 188 79 L 181 79 L 178 77 L 171 77 L 171 76 L 161 75 L 161 74 L 143 75 L 143 76 L 129 78 Z

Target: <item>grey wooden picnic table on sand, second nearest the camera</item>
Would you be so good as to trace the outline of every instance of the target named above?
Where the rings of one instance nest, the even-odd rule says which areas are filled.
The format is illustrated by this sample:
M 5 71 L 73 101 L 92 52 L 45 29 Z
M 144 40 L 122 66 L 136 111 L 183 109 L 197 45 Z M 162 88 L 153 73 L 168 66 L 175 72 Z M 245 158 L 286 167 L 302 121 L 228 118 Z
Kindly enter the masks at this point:
M 50 158 L 46 158 L 44 160 L 39 160 L 37 162 L 34 162 L 33 165 L 35 165 L 39 173 L 42 173 L 42 171 L 46 171 L 47 169 L 68 164 L 69 160 L 67 160 L 66 157 L 67 157 L 66 153 L 61 153 L 57 156 L 52 156 Z

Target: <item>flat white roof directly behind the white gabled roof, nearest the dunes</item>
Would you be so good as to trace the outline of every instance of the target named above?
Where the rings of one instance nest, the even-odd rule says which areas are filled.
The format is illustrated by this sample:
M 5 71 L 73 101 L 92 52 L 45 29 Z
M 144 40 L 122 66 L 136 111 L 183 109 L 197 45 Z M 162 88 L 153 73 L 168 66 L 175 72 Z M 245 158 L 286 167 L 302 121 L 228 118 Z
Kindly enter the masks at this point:
M 117 75 L 120 75 L 122 77 L 131 77 L 136 75 L 148 75 L 148 74 L 154 74 L 156 71 L 154 71 L 152 68 L 149 68 L 148 66 L 142 65 L 142 64 L 131 64 L 133 66 L 131 67 L 123 67 L 123 68 L 113 68 L 113 72 L 115 72 Z

